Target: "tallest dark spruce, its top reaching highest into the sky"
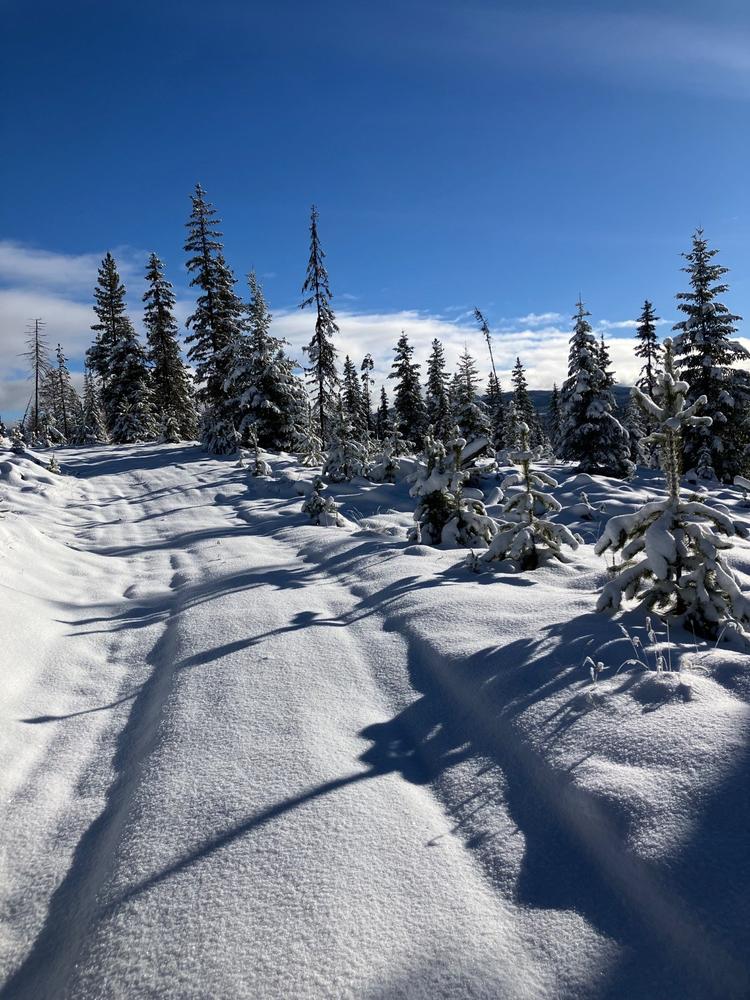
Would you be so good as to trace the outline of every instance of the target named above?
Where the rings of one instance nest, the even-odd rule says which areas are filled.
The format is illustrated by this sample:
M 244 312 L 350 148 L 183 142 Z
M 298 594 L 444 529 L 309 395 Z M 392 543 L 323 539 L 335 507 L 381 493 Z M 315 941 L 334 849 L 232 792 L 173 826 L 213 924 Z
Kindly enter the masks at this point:
M 233 349 L 244 329 L 245 309 L 235 294 L 235 278 L 223 254 L 216 210 L 196 184 L 186 225 L 185 252 L 190 285 L 199 290 L 187 319 L 191 331 L 188 358 L 195 365 L 195 397 L 202 407 L 201 440 L 206 451 L 227 455 L 237 450 L 234 413 L 224 388 Z

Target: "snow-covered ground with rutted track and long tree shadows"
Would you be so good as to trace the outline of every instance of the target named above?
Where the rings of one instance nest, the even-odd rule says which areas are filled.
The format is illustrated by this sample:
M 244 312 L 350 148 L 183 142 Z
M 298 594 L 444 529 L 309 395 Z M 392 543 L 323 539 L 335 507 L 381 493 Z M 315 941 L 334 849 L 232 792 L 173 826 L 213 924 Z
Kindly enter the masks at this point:
M 750 994 L 750 655 L 594 611 L 658 476 L 558 468 L 587 544 L 477 575 L 403 482 L 58 457 L 0 450 L 2 1000 Z

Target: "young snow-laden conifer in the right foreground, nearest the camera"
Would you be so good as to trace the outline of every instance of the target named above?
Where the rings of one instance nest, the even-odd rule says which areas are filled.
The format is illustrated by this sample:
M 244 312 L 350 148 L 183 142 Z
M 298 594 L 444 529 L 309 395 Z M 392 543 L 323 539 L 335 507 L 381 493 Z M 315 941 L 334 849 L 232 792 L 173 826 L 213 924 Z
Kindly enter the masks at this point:
M 655 398 L 638 388 L 633 393 L 657 425 L 651 437 L 659 450 L 667 497 L 607 523 L 595 551 L 620 552 L 623 561 L 613 569 L 597 609 L 617 611 L 623 599 L 633 599 L 701 636 L 716 638 L 723 631 L 746 635 L 750 601 L 722 551 L 732 547 L 731 538 L 746 538 L 748 531 L 727 513 L 680 496 L 685 431 L 711 426 L 710 417 L 698 416 L 705 397 L 688 404 L 688 392 L 687 382 L 676 377 L 672 342 L 666 340 Z

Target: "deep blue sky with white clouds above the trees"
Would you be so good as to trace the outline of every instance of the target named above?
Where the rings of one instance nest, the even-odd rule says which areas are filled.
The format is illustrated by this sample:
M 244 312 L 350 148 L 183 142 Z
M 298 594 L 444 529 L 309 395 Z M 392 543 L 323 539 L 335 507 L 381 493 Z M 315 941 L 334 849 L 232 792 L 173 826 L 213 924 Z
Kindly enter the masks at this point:
M 150 249 L 189 311 L 196 180 L 295 347 L 316 202 L 341 346 L 383 369 L 401 326 L 479 352 L 476 304 L 503 367 L 523 349 L 549 384 L 579 290 L 614 337 L 646 296 L 674 318 L 698 224 L 750 315 L 746 3 L 0 0 L 0 14 L 4 414 L 27 315 L 80 357 L 106 249 L 135 312 Z M 629 351 L 616 345 L 624 378 Z

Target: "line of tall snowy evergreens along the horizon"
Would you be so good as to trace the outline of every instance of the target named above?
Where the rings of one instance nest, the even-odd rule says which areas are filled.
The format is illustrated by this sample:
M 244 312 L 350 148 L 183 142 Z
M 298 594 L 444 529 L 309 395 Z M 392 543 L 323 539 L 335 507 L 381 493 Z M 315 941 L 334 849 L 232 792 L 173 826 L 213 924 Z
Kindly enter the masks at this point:
M 83 393 L 73 387 L 67 359 L 58 345 L 50 357 L 43 328 L 36 324 L 27 358 L 35 392 L 20 428 L 27 441 L 70 443 L 192 440 L 199 436 L 213 454 L 230 454 L 254 443 L 296 451 L 314 464 L 328 452 L 348 475 L 376 456 L 383 461 L 418 452 L 429 436 L 447 442 L 456 431 L 467 442 L 483 439 L 488 450 L 517 448 L 521 426 L 529 446 L 575 462 L 588 472 L 626 477 L 634 463 L 653 463 L 644 442 L 653 431 L 635 403 L 620 412 L 615 403 L 609 349 L 596 337 L 583 302 L 576 305 L 568 376 L 552 387 L 548 412 L 532 401 L 519 359 L 504 392 L 483 314 L 475 316 L 490 359 L 486 388 L 467 349 L 453 373 L 443 345 L 432 341 L 424 380 L 414 347 L 402 332 L 394 348 L 391 399 L 385 386 L 376 398 L 374 362 L 349 356 L 337 365 L 339 332 L 319 216 L 310 217 L 310 253 L 300 308 L 312 311 L 313 333 L 304 348 L 304 373 L 288 344 L 272 332 L 272 316 L 254 273 L 243 299 L 229 267 L 215 208 L 196 185 L 191 195 L 184 249 L 195 307 L 187 319 L 188 364 L 183 361 L 175 318 L 175 295 L 164 265 L 152 253 L 143 295 L 145 343 L 128 316 L 126 290 L 107 253 L 94 290 L 94 342 L 86 354 Z M 690 427 L 685 464 L 703 478 L 730 481 L 747 474 L 750 451 L 750 377 L 736 366 L 750 355 L 735 340 L 740 317 L 722 299 L 727 268 L 714 260 L 701 229 L 683 254 L 688 289 L 677 294 L 682 314 L 674 327 L 674 365 L 688 385 L 688 403 L 706 397 L 711 424 Z M 659 317 L 645 301 L 638 317 L 635 353 L 642 360 L 636 385 L 652 394 L 663 370 Z M 192 369 L 192 370 L 191 370 Z

